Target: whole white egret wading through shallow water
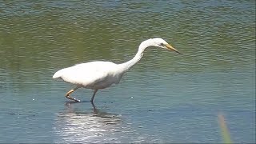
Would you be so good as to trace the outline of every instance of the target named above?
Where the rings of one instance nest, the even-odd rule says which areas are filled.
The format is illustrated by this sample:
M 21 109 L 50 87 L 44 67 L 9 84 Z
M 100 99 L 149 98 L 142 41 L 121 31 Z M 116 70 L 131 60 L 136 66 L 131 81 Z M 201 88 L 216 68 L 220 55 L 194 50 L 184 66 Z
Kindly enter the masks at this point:
M 53 78 L 62 78 L 63 81 L 76 85 L 74 89 L 66 93 L 66 98 L 74 100 L 75 102 L 81 102 L 76 98 L 72 98 L 70 94 L 73 93 L 74 90 L 84 87 L 86 89 L 94 90 L 94 94 L 90 99 L 90 102 L 94 102 L 94 96 L 97 91 L 100 89 L 105 89 L 106 87 L 111 86 L 113 83 L 118 84 L 122 78 L 122 75 L 126 73 L 127 70 L 130 70 L 130 68 L 142 58 L 144 50 L 150 46 L 174 50 L 178 54 L 181 54 L 162 38 L 150 38 L 143 41 L 138 46 L 137 54 L 128 62 L 121 64 L 103 61 L 81 63 L 58 70 L 54 74 Z

